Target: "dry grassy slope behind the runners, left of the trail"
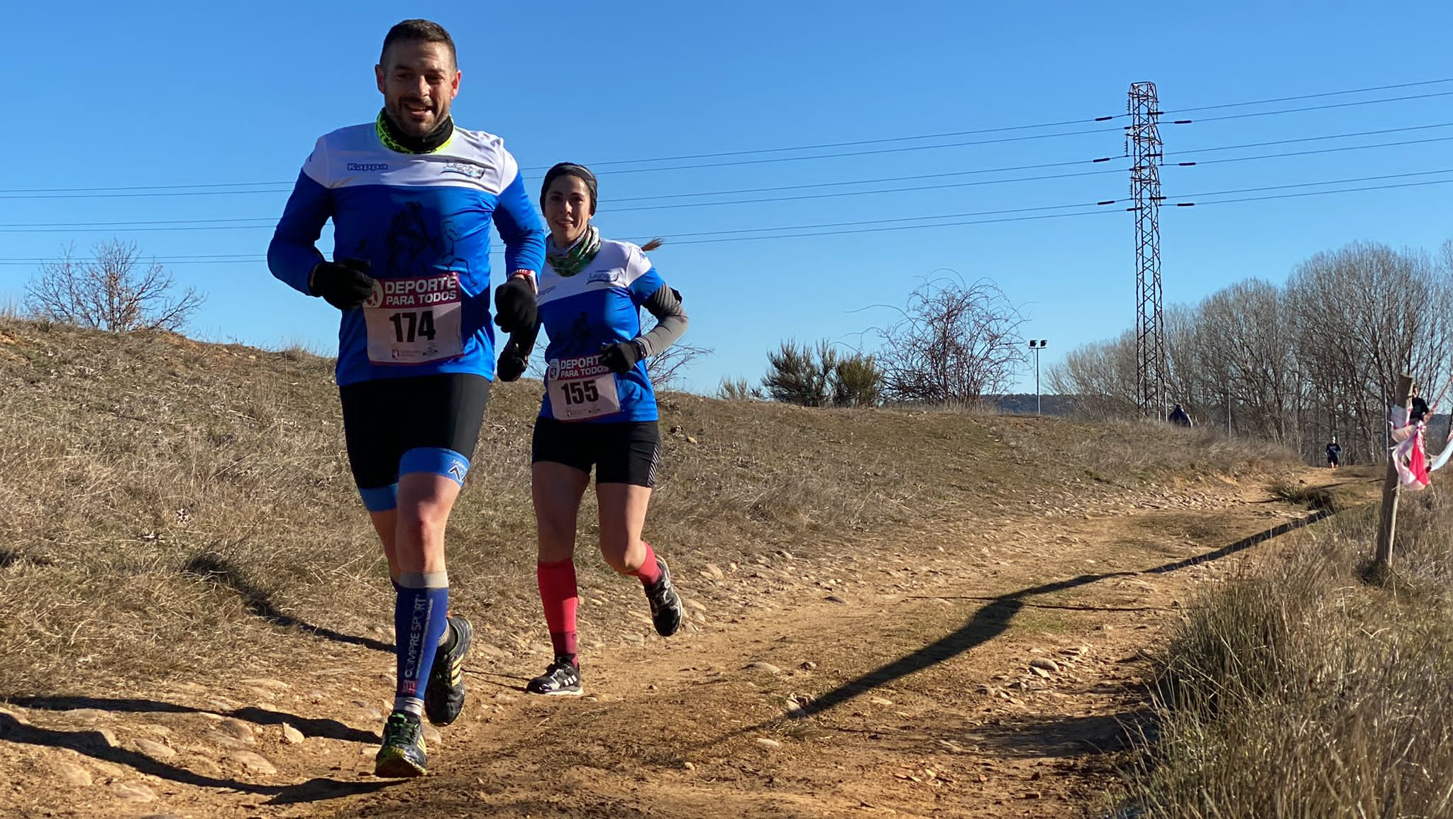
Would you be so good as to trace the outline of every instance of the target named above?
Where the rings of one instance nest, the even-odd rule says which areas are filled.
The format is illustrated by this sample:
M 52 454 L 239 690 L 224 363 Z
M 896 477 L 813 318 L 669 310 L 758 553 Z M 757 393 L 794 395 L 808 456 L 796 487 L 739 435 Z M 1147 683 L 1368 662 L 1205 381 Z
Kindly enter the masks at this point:
M 539 390 L 497 385 L 450 519 L 453 599 L 500 644 L 543 639 L 529 500 Z M 840 554 L 926 518 L 1094 492 L 1080 461 L 1106 464 L 1122 447 L 1155 451 L 1136 480 L 1244 467 L 1242 452 L 1145 426 L 674 393 L 661 404 L 647 537 L 709 605 L 716 592 L 689 580 L 708 562 Z M 299 628 L 391 642 L 386 567 L 349 476 L 331 359 L 307 349 L 0 320 L 0 698 L 323 662 L 328 643 L 298 640 Z M 600 601 L 584 617 L 638 608 L 639 589 L 591 548 L 588 500 L 581 524 L 583 594 Z

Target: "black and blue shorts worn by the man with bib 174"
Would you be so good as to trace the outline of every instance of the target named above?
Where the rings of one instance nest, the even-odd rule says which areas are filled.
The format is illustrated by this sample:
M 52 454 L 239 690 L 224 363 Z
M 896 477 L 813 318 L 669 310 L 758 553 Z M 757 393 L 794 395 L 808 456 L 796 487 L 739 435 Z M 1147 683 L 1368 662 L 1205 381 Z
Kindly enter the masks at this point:
M 360 490 L 381 489 L 398 483 L 398 464 L 411 450 L 472 458 L 490 380 L 468 372 L 375 378 L 339 387 L 339 399 L 353 480 Z

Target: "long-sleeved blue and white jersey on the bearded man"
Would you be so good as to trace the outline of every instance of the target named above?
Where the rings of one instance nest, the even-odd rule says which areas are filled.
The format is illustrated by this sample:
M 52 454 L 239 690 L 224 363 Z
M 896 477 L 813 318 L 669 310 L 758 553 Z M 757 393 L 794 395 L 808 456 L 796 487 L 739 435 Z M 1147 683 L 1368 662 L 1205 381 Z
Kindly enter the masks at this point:
M 365 259 L 372 298 L 339 324 L 339 384 L 436 372 L 494 378 L 490 224 L 506 271 L 539 271 L 545 231 L 514 157 L 493 134 L 455 128 L 439 150 L 389 150 L 375 124 L 321 137 L 267 247 L 272 273 L 308 292 L 333 220 L 333 259 Z

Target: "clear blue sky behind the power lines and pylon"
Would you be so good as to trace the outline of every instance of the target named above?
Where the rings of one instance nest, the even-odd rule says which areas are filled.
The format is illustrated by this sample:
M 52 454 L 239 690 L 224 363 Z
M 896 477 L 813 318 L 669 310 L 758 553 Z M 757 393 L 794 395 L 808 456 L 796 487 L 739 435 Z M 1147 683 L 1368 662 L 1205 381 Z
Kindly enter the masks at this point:
M 830 13 L 824 13 L 831 9 Z M 1183 108 L 1453 77 L 1453 6 L 1402 3 L 1168 3 L 1141 16 L 1090 3 L 68 3 L 3 13 L 10 68 L 0 151 L 0 303 L 19 298 L 35 266 L 13 259 L 84 250 L 112 236 L 170 263 L 179 284 L 208 294 L 190 332 L 260 346 L 331 349 L 336 313 L 273 279 L 260 260 L 286 188 L 314 140 L 373 118 L 372 65 L 389 25 L 443 23 L 464 71 L 455 118 L 500 134 L 530 191 L 559 160 L 600 175 L 606 236 L 665 236 L 652 259 L 681 291 L 689 339 L 715 355 L 689 385 L 760 378 L 786 337 L 866 343 L 924 276 L 952 269 L 994 279 L 1029 316 L 1026 337 L 1049 339 L 1048 367 L 1068 349 L 1133 321 L 1130 215 L 1113 212 L 818 237 L 742 240 L 725 231 L 867 223 L 924 224 L 976 214 L 1125 199 L 1125 161 L 806 188 L 1119 157 L 1132 81 Z M 60 16 L 58 16 L 60 15 Z M 1164 125 L 1167 159 L 1248 143 L 1453 124 L 1453 96 L 1283 115 L 1210 116 L 1453 92 L 1453 83 L 1194 112 Z M 689 154 L 889 140 L 1074 121 L 1077 125 L 831 151 L 677 161 Z M 997 137 L 1104 132 L 923 148 Z M 1210 151 L 1200 159 L 1453 137 L 1453 125 L 1383 135 Z M 1226 161 L 1162 170 L 1167 196 L 1453 169 L 1453 141 Z M 914 148 L 883 151 L 883 148 Z M 883 153 L 862 153 L 862 151 Z M 724 161 L 856 153 L 793 161 Z M 1177 156 L 1180 154 L 1180 157 Z M 616 164 L 606 164 L 616 163 Z M 681 169 L 683 164 L 716 167 Z M 668 167 L 663 170 L 663 167 Z M 670 169 L 674 167 L 674 169 Z M 876 195 L 780 199 L 825 192 L 921 188 L 1064 173 L 1087 176 L 960 185 Z M 1409 176 L 1388 182 L 1453 179 Z M 283 182 L 193 189 L 203 195 L 57 198 L 19 189 Z M 681 196 L 703 192 L 788 191 Z M 247 189 L 250 192 L 235 192 Z M 1316 191 L 1296 188 L 1268 193 Z M 115 192 L 112 192 L 115 193 Z M 1248 193 L 1257 195 L 1257 193 Z M 671 196 L 671 198 L 667 198 Z M 1209 201 L 1203 198 L 1202 201 Z M 1453 185 L 1168 208 L 1162 212 L 1165 298 L 1196 301 L 1234 281 L 1283 281 L 1306 256 L 1351 240 L 1433 249 L 1453 237 Z M 1040 211 L 1056 212 L 1056 211 Z M 250 218 L 250 223 L 199 220 Z M 974 221 L 960 217 L 940 221 Z M 121 221 L 177 221 L 132 231 Z M 80 231 L 71 223 L 105 223 Z M 61 225 L 36 228 L 28 225 Z M 225 224 L 227 230 L 215 230 Z M 244 225 L 244 227 L 237 227 Z M 185 228 L 185 230 L 183 230 Z M 831 230 L 831 228 L 830 228 Z M 801 233 L 788 230 L 785 233 Z M 692 236 L 686 236 L 692 234 Z M 676 237 L 676 239 L 671 239 Z M 728 239 L 726 241 L 700 241 Z M 867 308 L 867 310 L 865 310 Z M 1033 387 L 1027 372 L 1020 385 Z

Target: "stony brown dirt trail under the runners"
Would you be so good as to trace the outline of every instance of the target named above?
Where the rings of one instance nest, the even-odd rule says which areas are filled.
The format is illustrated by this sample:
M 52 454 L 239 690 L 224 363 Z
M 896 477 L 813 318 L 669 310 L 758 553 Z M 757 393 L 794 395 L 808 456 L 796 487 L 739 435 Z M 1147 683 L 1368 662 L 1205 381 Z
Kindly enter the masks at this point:
M 417 781 L 369 775 L 391 679 L 371 640 L 279 637 L 318 652 L 304 678 L 10 703 L 0 815 L 1103 816 L 1145 652 L 1199 585 L 1318 514 L 1209 480 L 975 515 L 679 567 L 695 628 L 655 637 L 642 601 L 636 630 L 586 655 L 583 698 L 523 695 L 543 655 L 481 646 Z M 735 605 L 695 602 L 703 585 Z M 581 617 L 588 640 L 588 599 Z

